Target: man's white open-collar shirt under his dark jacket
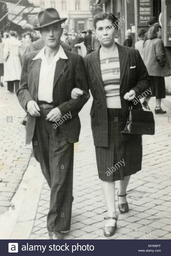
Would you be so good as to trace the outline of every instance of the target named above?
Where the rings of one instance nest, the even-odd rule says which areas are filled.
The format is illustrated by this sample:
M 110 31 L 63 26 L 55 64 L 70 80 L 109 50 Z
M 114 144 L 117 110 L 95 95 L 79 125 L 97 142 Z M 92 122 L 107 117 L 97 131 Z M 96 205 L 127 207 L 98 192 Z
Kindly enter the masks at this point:
M 38 99 L 39 101 L 47 101 L 48 103 L 53 102 L 53 80 L 54 72 L 59 59 L 68 59 L 62 46 L 54 56 L 53 60 L 48 61 L 45 57 L 45 46 L 40 52 L 33 58 L 33 60 L 41 59 L 41 67 L 39 74 L 39 85 L 38 85 Z

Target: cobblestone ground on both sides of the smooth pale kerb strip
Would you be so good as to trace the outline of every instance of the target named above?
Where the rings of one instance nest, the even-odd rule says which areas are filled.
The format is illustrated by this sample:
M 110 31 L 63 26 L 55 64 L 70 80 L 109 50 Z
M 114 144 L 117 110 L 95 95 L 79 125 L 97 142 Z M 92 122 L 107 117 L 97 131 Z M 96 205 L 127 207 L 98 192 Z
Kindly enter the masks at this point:
M 25 128 L 20 124 L 24 111 L 16 95 L 7 94 L 6 90 L 1 88 L 1 210 L 10 205 L 32 153 L 31 146 L 25 146 Z M 167 114 L 154 114 L 155 135 L 143 136 L 142 170 L 132 175 L 127 189 L 130 211 L 119 214 L 118 229 L 111 238 L 103 236 L 106 206 L 97 174 L 89 116 L 91 102 L 90 99 L 80 112 L 82 129 L 74 150 L 72 225 L 64 239 L 171 239 L 171 123 L 168 122 L 171 110 L 168 101 L 162 104 Z M 154 110 L 154 98 L 149 106 Z M 13 116 L 13 123 L 6 123 L 6 116 Z M 36 165 L 35 160 L 34 163 Z M 118 186 L 118 182 L 116 184 Z M 49 239 L 46 227 L 49 196 L 44 180 L 29 239 Z M 31 201 L 30 209 L 34 204 Z

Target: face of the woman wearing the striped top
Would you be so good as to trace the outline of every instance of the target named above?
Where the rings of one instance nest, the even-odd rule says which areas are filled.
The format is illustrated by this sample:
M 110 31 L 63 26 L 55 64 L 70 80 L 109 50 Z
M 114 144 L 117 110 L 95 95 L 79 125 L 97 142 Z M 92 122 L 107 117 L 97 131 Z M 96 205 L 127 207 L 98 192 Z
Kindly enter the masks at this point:
M 115 41 L 115 28 L 112 27 L 112 22 L 108 19 L 97 21 L 96 36 L 102 46 L 110 47 Z

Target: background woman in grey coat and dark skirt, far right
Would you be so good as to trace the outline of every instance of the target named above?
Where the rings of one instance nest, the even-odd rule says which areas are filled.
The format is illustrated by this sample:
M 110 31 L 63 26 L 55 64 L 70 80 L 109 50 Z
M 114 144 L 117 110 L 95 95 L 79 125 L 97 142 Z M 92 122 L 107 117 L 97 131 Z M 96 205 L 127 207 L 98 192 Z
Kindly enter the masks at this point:
M 150 97 L 156 98 L 155 114 L 166 114 L 166 111 L 161 108 L 161 101 L 166 97 L 164 77 L 171 74 L 159 23 L 155 23 L 148 31 L 148 40 L 144 44 L 144 63 L 151 80 L 152 95 Z

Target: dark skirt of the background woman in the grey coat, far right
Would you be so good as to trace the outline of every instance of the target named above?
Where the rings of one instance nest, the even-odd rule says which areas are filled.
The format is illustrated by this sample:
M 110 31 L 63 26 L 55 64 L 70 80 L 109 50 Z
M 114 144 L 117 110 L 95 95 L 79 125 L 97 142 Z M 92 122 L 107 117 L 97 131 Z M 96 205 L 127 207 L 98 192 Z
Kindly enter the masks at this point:
M 165 77 L 161 76 L 150 76 L 151 80 L 151 90 L 152 95 L 150 97 L 155 97 L 156 99 L 163 99 L 166 97 L 165 88 Z

